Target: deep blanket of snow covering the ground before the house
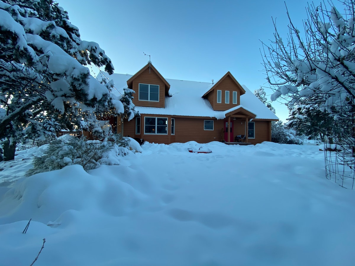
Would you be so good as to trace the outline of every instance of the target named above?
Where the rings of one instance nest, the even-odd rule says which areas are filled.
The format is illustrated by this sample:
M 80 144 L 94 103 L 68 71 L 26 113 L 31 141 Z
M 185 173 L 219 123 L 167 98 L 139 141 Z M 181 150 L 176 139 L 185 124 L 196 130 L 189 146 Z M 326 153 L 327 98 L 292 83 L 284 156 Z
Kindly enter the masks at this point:
M 0 265 L 30 265 L 45 238 L 34 266 L 353 266 L 355 190 L 324 177 L 319 148 L 146 143 L 28 178 L 41 151 L 21 151 L 0 162 Z

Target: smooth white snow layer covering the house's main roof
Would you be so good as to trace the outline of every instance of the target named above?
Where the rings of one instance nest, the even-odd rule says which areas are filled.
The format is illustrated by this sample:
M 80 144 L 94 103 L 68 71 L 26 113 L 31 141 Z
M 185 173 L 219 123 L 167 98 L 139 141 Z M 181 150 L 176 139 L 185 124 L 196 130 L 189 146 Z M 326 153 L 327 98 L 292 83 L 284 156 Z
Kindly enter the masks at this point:
M 100 76 L 100 74 L 98 75 Z M 129 74 L 104 74 L 108 79 L 113 79 L 117 96 L 123 94 L 123 88 L 127 88 L 127 80 L 133 75 Z M 226 111 L 214 111 L 207 99 L 202 95 L 212 87 L 209 82 L 183 81 L 178 79 L 166 79 L 170 84 L 169 95 L 165 98 L 165 108 L 140 107 L 137 109 L 140 113 L 149 113 L 152 115 L 179 115 L 179 116 L 204 116 L 215 117 L 217 119 L 225 118 L 225 114 L 240 107 L 254 113 L 258 119 L 279 119 L 272 111 L 266 107 L 245 85 L 242 87 L 246 93 L 240 96 L 240 105 L 232 107 Z M 133 95 L 138 97 L 138 95 Z

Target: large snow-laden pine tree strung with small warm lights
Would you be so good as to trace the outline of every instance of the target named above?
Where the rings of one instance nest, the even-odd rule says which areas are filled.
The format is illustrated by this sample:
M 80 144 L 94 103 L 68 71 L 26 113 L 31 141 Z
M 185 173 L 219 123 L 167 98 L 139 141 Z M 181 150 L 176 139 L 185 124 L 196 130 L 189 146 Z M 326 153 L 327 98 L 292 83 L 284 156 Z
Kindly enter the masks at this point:
M 5 160 L 16 143 L 56 130 L 86 127 L 102 134 L 95 111 L 123 113 L 124 106 L 85 65 L 109 57 L 83 41 L 68 13 L 53 0 L 0 0 L 0 139 Z

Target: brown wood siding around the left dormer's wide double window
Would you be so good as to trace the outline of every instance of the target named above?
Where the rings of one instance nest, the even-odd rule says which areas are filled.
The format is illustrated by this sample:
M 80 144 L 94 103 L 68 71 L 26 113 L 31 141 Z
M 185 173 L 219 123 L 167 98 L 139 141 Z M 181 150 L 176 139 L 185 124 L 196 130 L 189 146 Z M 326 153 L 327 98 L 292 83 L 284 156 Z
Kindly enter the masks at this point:
M 140 101 L 139 100 L 139 83 L 143 84 L 152 84 L 152 85 L 159 85 L 159 101 Z M 136 77 L 132 82 L 132 88 L 136 93 L 133 95 L 133 104 L 136 106 L 144 106 L 144 107 L 165 107 L 165 83 L 162 79 L 149 68 L 144 70 L 138 77 Z

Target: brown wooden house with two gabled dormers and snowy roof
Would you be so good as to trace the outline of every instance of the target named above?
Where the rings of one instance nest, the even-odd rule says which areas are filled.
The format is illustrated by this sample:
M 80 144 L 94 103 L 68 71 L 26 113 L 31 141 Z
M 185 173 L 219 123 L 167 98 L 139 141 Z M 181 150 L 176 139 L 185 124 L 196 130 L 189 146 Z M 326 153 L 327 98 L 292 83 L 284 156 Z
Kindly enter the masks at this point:
M 148 63 L 134 75 L 113 74 L 117 94 L 133 89 L 140 116 L 118 118 L 118 133 L 170 144 L 195 140 L 246 143 L 271 141 L 271 121 L 278 117 L 230 72 L 215 83 L 165 79 Z M 115 93 L 115 91 L 114 91 Z M 242 136 L 243 137 L 243 136 Z

